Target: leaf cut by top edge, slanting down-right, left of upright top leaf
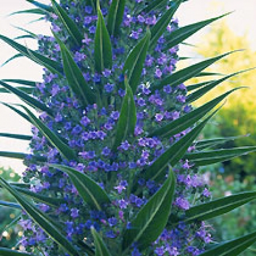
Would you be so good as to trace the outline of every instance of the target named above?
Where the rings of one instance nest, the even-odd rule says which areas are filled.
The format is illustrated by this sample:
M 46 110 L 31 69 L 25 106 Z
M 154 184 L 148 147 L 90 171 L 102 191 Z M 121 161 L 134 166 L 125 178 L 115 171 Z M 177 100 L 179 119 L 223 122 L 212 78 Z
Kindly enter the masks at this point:
M 55 0 L 51 0 L 51 2 L 53 10 L 57 14 L 57 16 L 59 16 L 61 23 L 63 23 L 73 42 L 76 44 L 76 46 L 81 47 L 83 36 L 76 23 L 71 18 L 69 18 L 66 11 Z

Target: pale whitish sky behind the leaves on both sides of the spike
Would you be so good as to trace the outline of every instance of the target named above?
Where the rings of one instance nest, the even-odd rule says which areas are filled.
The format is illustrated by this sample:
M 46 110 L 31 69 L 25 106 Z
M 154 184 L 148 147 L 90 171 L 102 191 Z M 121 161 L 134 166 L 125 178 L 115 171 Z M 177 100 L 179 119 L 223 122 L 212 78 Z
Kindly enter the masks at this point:
M 49 0 L 38 0 L 42 3 L 49 3 Z M 31 20 L 36 19 L 38 15 L 19 14 L 7 17 L 7 14 L 17 10 L 29 9 L 31 5 L 25 0 L 1 0 L 0 9 L 0 34 L 6 35 L 9 38 L 22 35 L 23 33 L 16 30 L 11 25 L 20 26 L 35 32 L 35 34 L 48 34 L 49 26 L 45 22 L 36 22 L 28 24 Z M 228 24 L 238 35 L 243 35 L 248 32 L 251 47 L 256 49 L 256 0 L 189 0 L 183 3 L 177 16 L 180 20 L 180 25 L 194 23 L 203 19 L 212 18 L 224 14 L 228 11 L 235 11 L 228 18 Z M 188 40 L 189 43 L 196 44 L 207 32 L 208 28 L 199 32 Z M 24 43 L 25 40 L 19 40 Z M 26 39 L 28 47 L 35 49 L 36 44 L 31 40 Z M 183 56 L 193 54 L 189 52 L 189 48 L 181 49 Z M 4 63 L 9 57 L 15 55 L 15 51 L 0 41 L 0 64 Z M 27 79 L 32 81 L 40 81 L 42 77 L 42 67 L 33 63 L 26 58 L 19 58 L 7 64 L 5 67 L 0 67 L 0 79 Z M 7 94 L 0 94 L 0 101 L 3 102 L 19 102 L 18 99 L 7 97 Z M 20 118 L 11 110 L 0 105 L 0 132 L 3 133 L 18 133 L 30 134 L 30 124 Z M 28 144 L 15 139 L 0 138 L 0 151 L 14 152 L 29 152 Z M 0 157 L 0 166 L 12 167 L 17 172 L 24 171 L 24 166 L 20 160 L 7 159 Z

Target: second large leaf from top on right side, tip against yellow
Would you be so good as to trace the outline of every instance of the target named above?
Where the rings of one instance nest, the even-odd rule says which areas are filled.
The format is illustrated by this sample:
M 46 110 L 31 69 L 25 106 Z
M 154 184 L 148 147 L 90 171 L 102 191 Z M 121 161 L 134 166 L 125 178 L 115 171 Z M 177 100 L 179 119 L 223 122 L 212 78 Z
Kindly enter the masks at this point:
M 233 51 L 233 52 L 236 52 L 236 51 Z M 187 68 L 181 69 L 180 71 L 177 71 L 177 72 L 173 73 L 172 75 L 166 77 L 162 81 L 160 81 L 158 85 L 155 85 L 152 88 L 152 91 L 154 91 L 156 89 L 162 89 L 163 86 L 168 85 L 168 84 L 170 84 L 171 86 L 174 86 L 174 87 L 179 84 L 182 84 L 183 82 L 187 81 L 188 79 L 191 79 L 192 77 L 195 77 L 196 75 L 198 75 L 201 71 L 203 71 L 205 68 L 209 67 L 216 61 L 222 59 L 225 56 L 228 56 L 230 53 L 233 53 L 233 52 L 228 52 L 228 53 L 222 54 L 220 56 L 201 61 L 201 62 L 191 65 Z

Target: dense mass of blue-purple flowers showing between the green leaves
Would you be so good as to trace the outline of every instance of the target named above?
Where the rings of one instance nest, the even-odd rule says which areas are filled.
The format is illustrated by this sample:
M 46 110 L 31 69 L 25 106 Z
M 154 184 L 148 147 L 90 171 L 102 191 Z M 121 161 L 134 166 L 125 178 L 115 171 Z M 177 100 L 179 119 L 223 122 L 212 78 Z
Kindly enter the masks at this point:
M 150 137 L 151 131 L 192 109 L 186 103 L 187 89 L 184 84 L 170 84 L 162 89 L 154 87 L 175 71 L 179 60 L 178 46 L 168 51 L 163 50 L 165 37 L 178 28 L 177 19 L 172 19 L 166 32 L 147 53 L 134 96 L 137 107 L 135 133 L 119 144 L 117 151 L 112 150 L 119 110 L 126 93 L 121 86 L 125 79 L 125 74 L 122 73 L 124 61 L 138 40 L 143 38 L 147 28 L 156 24 L 163 13 L 163 9 L 159 9 L 149 14 L 138 14 L 144 2 L 126 1 L 121 34 L 111 39 L 113 68 L 105 69 L 102 73 L 97 73 L 91 64 L 97 23 L 97 15 L 93 13 L 92 6 L 87 5 L 86 1 L 61 1 L 61 6 L 75 20 L 84 35 L 81 48 L 71 44 L 70 36 L 57 15 L 46 16 L 52 24 L 52 31 L 72 51 L 85 80 L 93 90 L 100 92 L 102 100 L 84 108 L 65 78 L 44 69 L 43 81 L 36 85 L 34 96 L 51 108 L 53 118 L 43 112 L 40 113 L 40 119 L 49 129 L 59 134 L 79 157 L 71 161 L 64 159 L 57 148 L 49 144 L 47 138 L 33 127 L 31 155 L 25 160 L 27 169 L 23 174 L 24 182 L 32 183 L 32 192 L 63 199 L 57 208 L 43 203 L 39 204 L 39 208 L 59 223 L 68 240 L 83 240 L 91 244 L 93 238 L 90 228 L 93 226 L 101 232 L 106 245 L 117 253 L 122 243 L 123 230 L 129 229 L 130 221 L 166 179 L 147 180 L 137 174 L 151 166 L 156 158 L 187 134 L 189 129 L 171 138 Z M 108 7 L 109 1 L 101 1 L 104 18 L 108 14 Z M 52 36 L 38 38 L 38 52 L 61 61 L 56 39 Z M 194 150 L 195 146 L 188 148 L 189 152 Z M 47 164 L 39 164 L 37 156 L 47 158 Z M 82 201 L 68 175 L 49 167 L 48 163 L 65 164 L 92 177 L 108 193 L 111 203 L 104 205 L 102 210 L 90 208 Z M 199 170 L 193 168 L 193 164 L 187 159 L 181 160 L 174 171 L 177 186 L 171 218 L 182 219 L 185 210 L 191 205 L 208 201 L 210 192 Z M 138 188 L 134 190 L 131 183 L 136 179 Z M 30 247 L 28 250 L 34 253 L 41 251 L 44 255 L 67 255 L 25 213 L 20 225 L 24 228 L 24 237 L 20 243 L 26 248 Z M 204 222 L 168 224 L 161 236 L 143 254 L 134 244 L 127 255 L 199 255 L 211 241 L 209 230 L 210 227 Z

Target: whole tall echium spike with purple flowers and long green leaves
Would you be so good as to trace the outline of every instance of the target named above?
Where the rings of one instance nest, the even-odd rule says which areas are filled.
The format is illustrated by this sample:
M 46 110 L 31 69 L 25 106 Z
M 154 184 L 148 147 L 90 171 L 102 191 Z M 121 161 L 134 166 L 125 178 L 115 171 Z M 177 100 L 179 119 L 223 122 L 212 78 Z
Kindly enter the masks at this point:
M 211 149 L 233 137 L 196 141 L 218 109 L 212 110 L 240 88 L 191 106 L 237 73 L 184 85 L 211 75 L 202 71 L 232 52 L 175 70 L 179 43 L 225 15 L 179 28 L 173 16 L 183 0 L 52 0 L 52 6 L 27 1 L 39 9 L 23 13 L 43 14 L 53 36 L 36 36 L 39 50 L 31 51 L 0 35 L 45 67 L 33 97 L 31 87 L 6 83 L 33 82 L 0 81 L 2 89 L 39 110 L 37 118 L 26 106 L 20 111 L 5 104 L 34 125 L 24 183 L 0 177 L 19 203 L 11 207 L 24 210 L 20 245 L 49 256 L 238 255 L 250 246 L 256 233 L 208 250 L 206 221 L 254 200 L 256 193 L 210 201 L 199 167 L 256 147 Z

